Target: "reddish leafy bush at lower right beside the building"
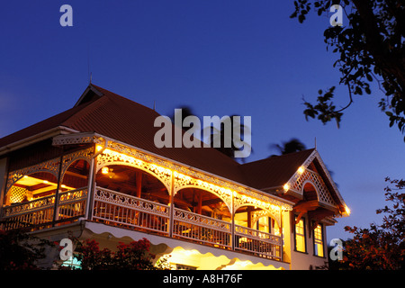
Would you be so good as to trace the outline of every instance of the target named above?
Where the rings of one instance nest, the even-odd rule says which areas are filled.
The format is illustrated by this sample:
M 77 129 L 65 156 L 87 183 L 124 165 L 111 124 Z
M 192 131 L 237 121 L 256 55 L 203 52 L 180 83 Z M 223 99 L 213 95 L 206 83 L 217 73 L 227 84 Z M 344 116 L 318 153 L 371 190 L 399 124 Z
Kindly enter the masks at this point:
M 370 228 L 360 229 L 345 227 L 354 234 L 353 239 L 345 242 L 345 252 L 342 268 L 353 270 L 376 269 L 405 269 L 405 181 L 385 181 L 394 184 L 385 190 L 386 201 L 392 202 L 392 207 L 385 206 L 376 212 L 386 213 L 383 224 L 370 224 Z

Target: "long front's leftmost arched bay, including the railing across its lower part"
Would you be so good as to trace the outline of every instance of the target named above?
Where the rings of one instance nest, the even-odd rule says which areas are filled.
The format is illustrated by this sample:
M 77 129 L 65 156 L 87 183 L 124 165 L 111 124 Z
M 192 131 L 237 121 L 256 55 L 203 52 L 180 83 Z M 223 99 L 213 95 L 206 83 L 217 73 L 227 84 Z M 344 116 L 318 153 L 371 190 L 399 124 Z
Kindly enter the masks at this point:
M 167 234 L 170 196 L 154 175 L 125 165 L 95 175 L 92 219 L 108 225 Z

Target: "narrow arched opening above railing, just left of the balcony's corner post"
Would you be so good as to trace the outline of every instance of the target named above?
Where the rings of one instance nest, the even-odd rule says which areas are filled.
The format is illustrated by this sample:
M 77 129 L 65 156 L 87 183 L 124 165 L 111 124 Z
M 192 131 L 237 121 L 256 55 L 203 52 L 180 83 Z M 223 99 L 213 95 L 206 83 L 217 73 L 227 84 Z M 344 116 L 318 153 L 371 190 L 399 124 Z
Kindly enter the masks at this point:
M 83 159 L 78 159 L 70 164 L 63 175 L 60 191 L 75 190 L 87 186 L 90 165 Z

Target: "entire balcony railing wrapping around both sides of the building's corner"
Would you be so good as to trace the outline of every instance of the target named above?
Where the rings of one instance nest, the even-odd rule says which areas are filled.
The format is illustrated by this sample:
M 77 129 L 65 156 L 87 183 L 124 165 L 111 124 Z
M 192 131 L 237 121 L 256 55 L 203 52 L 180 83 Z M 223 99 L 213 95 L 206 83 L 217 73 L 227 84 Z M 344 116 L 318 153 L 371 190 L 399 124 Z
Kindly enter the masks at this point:
M 87 188 L 58 193 L 55 195 L 3 207 L 3 229 L 23 227 L 47 228 L 85 217 L 88 199 Z M 95 187 L 93 209 L 89 220 L 124 229 L 153 232 L 161 236 L 179 238 L 247 252 L 258 257 L 282 259 L 282 238 L 274 234 L 232 225 L 191 211 L 174 208 L 158 202 Z M 54 209 L 57 212 L 54 216 Z M 55 219 L 54 219 L 55 218 Z M 8 220 L 8 221 L 7 221 Z

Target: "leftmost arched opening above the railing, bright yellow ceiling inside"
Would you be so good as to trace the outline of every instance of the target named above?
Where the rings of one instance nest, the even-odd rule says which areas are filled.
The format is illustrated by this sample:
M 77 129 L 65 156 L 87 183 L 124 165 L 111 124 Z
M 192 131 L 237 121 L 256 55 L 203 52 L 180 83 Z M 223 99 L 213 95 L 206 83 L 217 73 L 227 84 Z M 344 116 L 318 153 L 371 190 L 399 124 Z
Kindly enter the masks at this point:
M 5 197 L 5 205 L 30 202 L 56 193 L 58 179 L 48 172 L 23 175 L 10 187 Z

